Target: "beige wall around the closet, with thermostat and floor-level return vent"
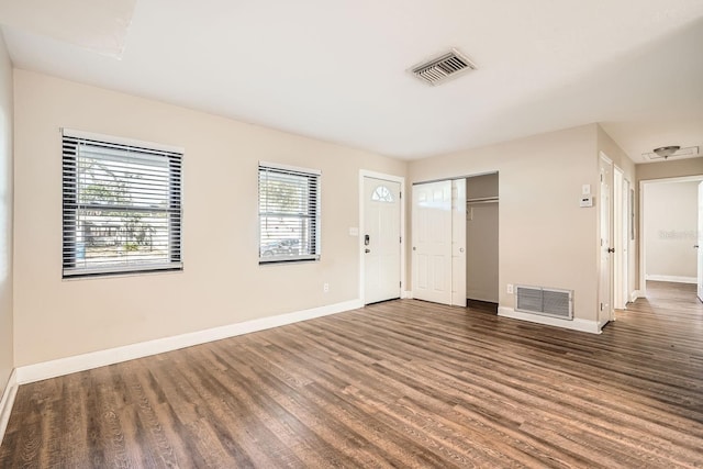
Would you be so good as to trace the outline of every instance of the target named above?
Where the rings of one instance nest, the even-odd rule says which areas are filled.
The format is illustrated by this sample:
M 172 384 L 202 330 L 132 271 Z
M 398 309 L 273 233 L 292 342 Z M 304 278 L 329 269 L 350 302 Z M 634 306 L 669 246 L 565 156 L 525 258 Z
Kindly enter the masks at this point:
M 572 289 L 574 316 L 596 321 L 598 210 L 579 199 L 582 185 L 596 189 L 598 132 L 590 124 L 410 164 L 411 182 L 499 171 L 501 306 L 514 306 L 507 283 Z

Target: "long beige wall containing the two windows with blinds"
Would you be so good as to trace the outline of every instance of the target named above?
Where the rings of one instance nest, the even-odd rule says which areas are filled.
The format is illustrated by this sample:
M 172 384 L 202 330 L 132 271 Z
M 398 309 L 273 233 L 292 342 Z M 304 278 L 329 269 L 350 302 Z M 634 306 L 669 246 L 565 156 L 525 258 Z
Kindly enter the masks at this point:
M 358 298 L 348 228 L 359 169 L 404 176 L 405 163 L 35 72 L 14 78 L 16 366 Z M 183 272 L 62 280 L 63 126 L 186 149 Z M 320 263 L 258 266 L 259 160 L 322 170 Z

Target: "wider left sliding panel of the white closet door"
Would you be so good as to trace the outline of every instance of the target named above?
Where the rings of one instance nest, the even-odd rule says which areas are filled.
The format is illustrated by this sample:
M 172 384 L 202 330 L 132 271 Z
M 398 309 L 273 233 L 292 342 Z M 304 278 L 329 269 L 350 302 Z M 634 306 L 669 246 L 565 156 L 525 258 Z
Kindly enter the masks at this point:
M 413 298 L 451 304 L 451 181 L 413 186 L 412 217 Z

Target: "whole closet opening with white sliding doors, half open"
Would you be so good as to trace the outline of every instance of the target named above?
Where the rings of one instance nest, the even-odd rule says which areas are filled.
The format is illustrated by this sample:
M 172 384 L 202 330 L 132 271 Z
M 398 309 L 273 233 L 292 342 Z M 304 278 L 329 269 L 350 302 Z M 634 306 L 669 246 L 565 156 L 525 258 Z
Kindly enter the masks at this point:
M 498 177 L 413 186 L 413 298 L 498 305 Z

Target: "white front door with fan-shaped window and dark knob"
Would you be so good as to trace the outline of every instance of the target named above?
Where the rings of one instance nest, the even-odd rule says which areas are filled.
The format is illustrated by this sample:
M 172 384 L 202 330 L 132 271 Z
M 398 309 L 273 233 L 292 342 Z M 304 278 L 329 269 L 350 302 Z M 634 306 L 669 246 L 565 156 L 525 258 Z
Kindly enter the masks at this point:
M 364 302 L 400 298 L 400 182 L 364 178 Z

